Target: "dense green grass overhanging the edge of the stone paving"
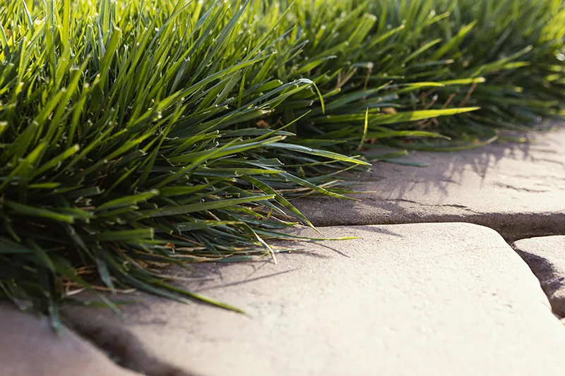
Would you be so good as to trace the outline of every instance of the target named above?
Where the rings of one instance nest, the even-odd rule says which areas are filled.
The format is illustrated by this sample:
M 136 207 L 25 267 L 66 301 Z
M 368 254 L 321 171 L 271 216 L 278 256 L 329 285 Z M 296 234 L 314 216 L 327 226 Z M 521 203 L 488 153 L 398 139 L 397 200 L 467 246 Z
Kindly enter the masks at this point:
M 55 322 L 80 289 L 208 301 L 161 267 L 284 252 L 367 147 L 563 112 L 563 1 L 91 2 L 0 0 L 0 295 Z

